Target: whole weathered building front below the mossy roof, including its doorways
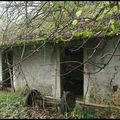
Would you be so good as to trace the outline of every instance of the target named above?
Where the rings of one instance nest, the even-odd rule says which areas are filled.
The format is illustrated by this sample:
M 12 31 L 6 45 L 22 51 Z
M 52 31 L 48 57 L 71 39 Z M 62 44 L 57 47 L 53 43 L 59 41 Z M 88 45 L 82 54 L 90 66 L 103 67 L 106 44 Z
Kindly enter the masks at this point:
M 101 42 L 101 38 L 93 38 L 84 47 L 79 47 L 82 40 L 76 40 L 47 43 L 42 47 L 32 43 L 1 49 L 0 80 L 4 87 L 14 86 L 15 91 L 27 86 L 56 98 L 60 98 L 63 91 L 72 91 L 80 100 L 86 96 L 87 102 L 110 99 L 115 87 L 120 86 L 120 46 L 115 50 L 118 39 L 105 37 Z M 99 47 L 94 52 L 92 48 L 96 44 Z M 108 64 L 113 52 L 115 56 Z M 22 58 L 26 59 L 19 62 Z M 101 69 L 100 66 L 106 64 Z

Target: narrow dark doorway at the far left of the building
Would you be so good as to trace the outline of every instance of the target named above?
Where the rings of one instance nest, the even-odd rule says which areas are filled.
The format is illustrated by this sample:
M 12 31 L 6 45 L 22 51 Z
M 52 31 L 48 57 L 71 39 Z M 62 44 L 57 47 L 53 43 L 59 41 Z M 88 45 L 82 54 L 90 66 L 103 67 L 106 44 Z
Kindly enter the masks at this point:
M 6 49 L 2 53 L 2 80 L 3 88 L 12 87 L 13 81 L 13 53 L 11 50 Z

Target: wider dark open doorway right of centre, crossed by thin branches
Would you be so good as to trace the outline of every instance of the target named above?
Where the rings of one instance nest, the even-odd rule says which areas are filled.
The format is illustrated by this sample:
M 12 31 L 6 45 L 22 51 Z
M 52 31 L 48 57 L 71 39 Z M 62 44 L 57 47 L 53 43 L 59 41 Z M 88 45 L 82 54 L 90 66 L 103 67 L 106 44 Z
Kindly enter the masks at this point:
M 61 94 L 63 91 L 72 91 L 76 98 L 82 100 L 84 68 L 80 63 L 83 62 L 83 48 L 75 49 L 76 47 L 65 47 L 61 53 Z

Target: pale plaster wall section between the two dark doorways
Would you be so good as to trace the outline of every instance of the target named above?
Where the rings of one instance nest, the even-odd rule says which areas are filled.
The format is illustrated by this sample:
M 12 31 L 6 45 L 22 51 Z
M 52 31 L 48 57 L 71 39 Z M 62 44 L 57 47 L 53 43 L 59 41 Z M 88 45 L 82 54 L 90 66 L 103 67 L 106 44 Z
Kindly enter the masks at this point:
M 26 47 L 23 58 L 37 47 Z M 15 89 L 24 89 L 27 83 L 31 89 L 35 88 L 44 95 L 60 97 L 60 59 L 58 50 L 57 46 L 48 44 L 15 66 L 13 73 Z M 13 64 L 20 60 L 22 51 L 23 47 L 14 49 Z

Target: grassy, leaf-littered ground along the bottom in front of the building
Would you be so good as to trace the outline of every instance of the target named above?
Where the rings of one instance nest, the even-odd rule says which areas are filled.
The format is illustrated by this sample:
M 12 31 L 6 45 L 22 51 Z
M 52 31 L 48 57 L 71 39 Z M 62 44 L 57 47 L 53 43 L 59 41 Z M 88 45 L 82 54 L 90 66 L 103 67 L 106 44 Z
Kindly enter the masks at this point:
M 1 119 L 31 119 L 31 118 L 64 118 L 64 119 L 95 119 L 118 118 L 120 110 L 108 106 L 99 108 L 92 106 L 76 105 L 72 112 L 61 115 L 59 111 L 41 108 L 27 108 L 24 97 L 20 92 L 0 91 L 0 118 Z

